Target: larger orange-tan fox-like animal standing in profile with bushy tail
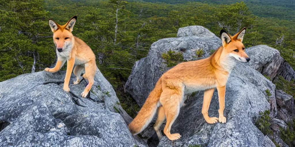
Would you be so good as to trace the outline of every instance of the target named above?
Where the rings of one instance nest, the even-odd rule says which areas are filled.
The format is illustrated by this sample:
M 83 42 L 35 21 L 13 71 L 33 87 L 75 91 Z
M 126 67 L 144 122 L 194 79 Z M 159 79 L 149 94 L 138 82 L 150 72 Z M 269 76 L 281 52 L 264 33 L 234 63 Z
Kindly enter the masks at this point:
M 171 134 L 170 129 L 178 116 L 180 107 L 184 105 L 184 95 L 200 90 L 204 90 L 202 113 L 206 122 L 210 124 L 217 123 L 217 121 L 225 123 L 226 118 L 223 111 L 227 79 L 236 64 L 236 60 L 241 62 L 250 60 L 241 42 L 245 29 L 243 28 L 235 36 L 230 36 L 222 30 L 221 36 L 226 39 L 222 39 L 223 45 L 211 56 L 197 61 L 183 62 L 164 73 L 137 116 L 129 124 L 130 131 L 136 135 L 144 130 L 159 107 L 158 118 L 154 125 L 159 139 L 162 138 L 159 129 L 165 119 L 167 119 L 164 128 L 165 135 L 170 140 L 179 139 L 181 135 L 179 133 Z M 239 36 L 239 34 L 241 35 Z M 238 52 L 236 52 L 236 49 Z M 208 116 L 208 109 L 215 88 L 217 88 L 219 97 L 219 118 Z

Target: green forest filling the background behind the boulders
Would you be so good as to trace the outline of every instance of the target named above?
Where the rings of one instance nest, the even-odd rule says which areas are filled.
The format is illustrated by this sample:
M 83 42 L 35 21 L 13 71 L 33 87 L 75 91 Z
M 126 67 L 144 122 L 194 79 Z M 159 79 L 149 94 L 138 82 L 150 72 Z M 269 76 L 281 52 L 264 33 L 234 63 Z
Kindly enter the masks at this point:
M 246 47 L 271 46 L 295 68 L 294 2 L 146 1 L 0 0 L 0 81 L 54 66 L 48 18 L 64 24 L 73 15 L 78 16 L 73 35 L 94 51 L 98 68 L 132 117 L 139 107 L 124 93 L 132 66 L 153 42 L 176 37 L 180 27 L 200 25 L 217 36 L 222 28 L 235 34 L 247 27 Z

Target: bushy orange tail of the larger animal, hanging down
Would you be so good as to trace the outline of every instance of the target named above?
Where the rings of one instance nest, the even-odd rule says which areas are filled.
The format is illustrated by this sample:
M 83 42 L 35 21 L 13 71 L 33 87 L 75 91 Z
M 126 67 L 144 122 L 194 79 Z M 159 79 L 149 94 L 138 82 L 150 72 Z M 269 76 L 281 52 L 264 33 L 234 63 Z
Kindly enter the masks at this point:
M 156 83 L 153 91 L 150 92 L 147 100 L 138 112 L 134 120 L 129 124 L 129 130 L 133 135 L 142 132 L 152 121 L 158 109 L 158 102 L 162 93 L 161 78 Z

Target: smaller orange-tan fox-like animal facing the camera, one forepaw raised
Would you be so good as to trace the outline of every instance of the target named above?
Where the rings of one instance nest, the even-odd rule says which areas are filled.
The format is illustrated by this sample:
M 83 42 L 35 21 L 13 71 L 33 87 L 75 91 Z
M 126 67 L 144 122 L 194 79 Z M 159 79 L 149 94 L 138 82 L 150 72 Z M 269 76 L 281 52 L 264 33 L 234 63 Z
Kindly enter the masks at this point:
M 91 48 L 78 37 L 73 36 L 73 26 L 77 16 L 73 16 L 65 25 L 61 26 L 52 19 L 49 19 L 49 25 L 53 32 L 53 42 L 56 45 L 56 53 L 58 61 L 54 68 L 46 68 L 45 71 L 57 72 L 61 69 L 65 61 L 67 61 L 67 71 L 65 74 L 65 82 L 63 90 L 69 92 L 69 81 L 74 72 L 77 80 L 74 84 L 78 84 L 84 78 L 88 79 L 88 85 L 81 93 L 82 97 L 86 97 L 91 86 L 94 83 L 94 75 L 96 73 L 95 55 Z M 62 49 L 61 52 L 58 49 Z M 75 66 L 74 70 L 73 67 Z M 83 75 L 83 77 L 81 76 Z

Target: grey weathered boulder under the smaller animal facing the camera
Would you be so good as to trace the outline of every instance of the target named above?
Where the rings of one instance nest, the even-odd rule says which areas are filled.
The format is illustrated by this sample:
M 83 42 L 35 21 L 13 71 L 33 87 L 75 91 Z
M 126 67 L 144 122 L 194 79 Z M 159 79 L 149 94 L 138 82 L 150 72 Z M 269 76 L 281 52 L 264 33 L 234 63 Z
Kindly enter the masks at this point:
M 98 70 L 90 95 L 87 81 L 63 91 L 65 71 L 40 71 L 0 82 L 0 146 L 146 146 L 126 122 L 114 89 Z M 121 114 L 121 115 L 120 115 Z

